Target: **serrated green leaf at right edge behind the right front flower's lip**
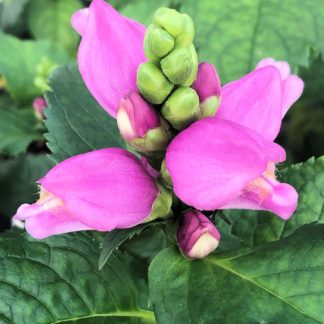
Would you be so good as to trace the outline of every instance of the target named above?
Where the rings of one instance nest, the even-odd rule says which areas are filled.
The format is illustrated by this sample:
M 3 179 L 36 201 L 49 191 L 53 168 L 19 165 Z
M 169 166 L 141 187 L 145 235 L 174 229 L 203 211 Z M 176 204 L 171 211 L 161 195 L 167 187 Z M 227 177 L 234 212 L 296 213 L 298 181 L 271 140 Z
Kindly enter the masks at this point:
M 299 194 L 297 210 L 288 221 L 269 212 L 224 211 L 232 222 L 231 233 L 245 245 L 279 240 L 305 224 L 324 223 L 324 157 L 290 166 L 279 173 L 279 180 L 291 184 Z

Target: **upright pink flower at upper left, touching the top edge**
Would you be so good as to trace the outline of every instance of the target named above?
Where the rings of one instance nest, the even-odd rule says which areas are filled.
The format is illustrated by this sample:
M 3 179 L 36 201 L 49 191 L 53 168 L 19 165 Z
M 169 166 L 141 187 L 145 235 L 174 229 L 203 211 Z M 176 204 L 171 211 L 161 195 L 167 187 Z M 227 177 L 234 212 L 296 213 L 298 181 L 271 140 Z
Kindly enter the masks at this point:
M 82 78 L 100 105 L 115 117 L 121 98 L 137 90 L 137 68 L 146 60 L 145 27 L 123 17 L 104 0 L 93 0 L 71 22 L 82 37 L 78 52 Z

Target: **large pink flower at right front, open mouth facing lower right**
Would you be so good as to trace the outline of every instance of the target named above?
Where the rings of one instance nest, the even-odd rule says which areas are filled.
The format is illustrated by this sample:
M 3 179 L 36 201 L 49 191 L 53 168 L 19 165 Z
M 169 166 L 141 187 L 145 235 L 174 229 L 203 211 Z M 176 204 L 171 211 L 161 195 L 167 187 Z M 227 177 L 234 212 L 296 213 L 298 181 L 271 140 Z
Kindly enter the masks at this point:
M 284 160 L 279 145 L 218 118 L 182 131 L 166 155 L 174 192 L 186 204 L 200 210 L 264 209 L 287 219 L 296 209 L 297 193 L 277 182 L 272 168 Z

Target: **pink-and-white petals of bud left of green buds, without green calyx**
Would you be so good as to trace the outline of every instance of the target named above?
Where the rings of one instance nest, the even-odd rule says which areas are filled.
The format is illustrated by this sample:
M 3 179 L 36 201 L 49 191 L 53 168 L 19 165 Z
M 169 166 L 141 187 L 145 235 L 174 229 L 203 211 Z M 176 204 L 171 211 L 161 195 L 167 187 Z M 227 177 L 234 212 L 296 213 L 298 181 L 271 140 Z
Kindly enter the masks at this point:
M 159 116 L 137 92 L 131 92 L 120 101 L 117 111 L 119 131 L 126 141 L 144 137 L 160 125 Z

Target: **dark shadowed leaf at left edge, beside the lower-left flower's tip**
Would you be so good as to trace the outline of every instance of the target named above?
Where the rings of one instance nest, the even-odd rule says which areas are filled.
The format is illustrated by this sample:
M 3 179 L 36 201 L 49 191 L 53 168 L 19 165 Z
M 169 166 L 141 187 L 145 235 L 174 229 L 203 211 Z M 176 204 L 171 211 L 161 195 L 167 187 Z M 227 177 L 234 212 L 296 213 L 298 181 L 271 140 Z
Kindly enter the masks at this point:
M 52 166 L 45 154 L 0 160 L 0 214 L 12 216 L 21 204 L 34 202 L 38 191 L 35 181 Z

